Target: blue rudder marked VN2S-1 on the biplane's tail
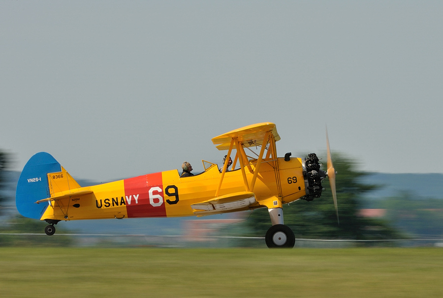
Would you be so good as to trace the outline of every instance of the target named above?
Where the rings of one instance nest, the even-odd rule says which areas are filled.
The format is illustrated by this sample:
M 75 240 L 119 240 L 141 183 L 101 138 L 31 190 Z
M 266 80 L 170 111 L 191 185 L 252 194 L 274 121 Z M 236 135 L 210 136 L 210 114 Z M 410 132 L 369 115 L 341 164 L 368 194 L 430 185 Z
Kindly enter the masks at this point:
M 48 173 L 60 172 L 62 166 L 51 154 L 34 154 L 23 168 L 17 183 L 15 204 L 23 216 L 40 219 L 48 204 L 35 204 L 36 201 L 51 197 Z

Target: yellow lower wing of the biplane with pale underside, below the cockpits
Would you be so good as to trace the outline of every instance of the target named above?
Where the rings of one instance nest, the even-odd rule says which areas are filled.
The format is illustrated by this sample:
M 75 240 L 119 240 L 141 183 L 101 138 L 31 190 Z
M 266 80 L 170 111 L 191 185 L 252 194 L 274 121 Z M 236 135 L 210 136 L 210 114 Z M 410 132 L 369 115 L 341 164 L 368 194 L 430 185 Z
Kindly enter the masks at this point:
M 220 213 L 226 210 L 246 209 L 256 202 L 253 192 L 242 191 L 192 204 L 191 207 L 194 210 L 194 214 Z

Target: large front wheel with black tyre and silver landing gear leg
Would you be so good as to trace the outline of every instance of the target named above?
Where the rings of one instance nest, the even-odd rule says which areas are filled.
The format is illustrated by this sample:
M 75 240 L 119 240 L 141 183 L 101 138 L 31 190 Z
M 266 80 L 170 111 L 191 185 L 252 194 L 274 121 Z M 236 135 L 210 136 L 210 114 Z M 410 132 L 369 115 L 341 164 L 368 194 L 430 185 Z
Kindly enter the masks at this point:
M 269 248 L 292 248 L 295 244 L 295 236 L 292 230 L 283 224 L 283 209 L 268 209 L 272 227 L 266 232 L 266 245 Z

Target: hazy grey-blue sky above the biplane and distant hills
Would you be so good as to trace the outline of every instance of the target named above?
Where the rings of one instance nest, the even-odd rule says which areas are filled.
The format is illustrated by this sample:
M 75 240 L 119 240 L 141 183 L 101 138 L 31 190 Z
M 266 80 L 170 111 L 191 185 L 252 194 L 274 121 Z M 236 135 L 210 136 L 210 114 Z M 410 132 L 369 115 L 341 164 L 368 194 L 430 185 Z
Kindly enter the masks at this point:
M 279 156 L 443 173 L 442 1 L 0 2 L 0 149 L 109 181 L 221 163 L 270 121 Z

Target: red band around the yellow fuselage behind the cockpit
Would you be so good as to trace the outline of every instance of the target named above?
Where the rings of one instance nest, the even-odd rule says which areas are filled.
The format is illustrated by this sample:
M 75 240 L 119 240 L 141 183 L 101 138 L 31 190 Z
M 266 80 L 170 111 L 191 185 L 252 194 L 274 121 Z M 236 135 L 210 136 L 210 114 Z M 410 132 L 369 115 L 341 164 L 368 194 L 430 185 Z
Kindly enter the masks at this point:
M 124 185 L 127 217 L 166 217 L 161 172 L 125 179 Z

